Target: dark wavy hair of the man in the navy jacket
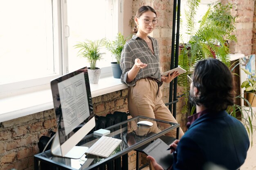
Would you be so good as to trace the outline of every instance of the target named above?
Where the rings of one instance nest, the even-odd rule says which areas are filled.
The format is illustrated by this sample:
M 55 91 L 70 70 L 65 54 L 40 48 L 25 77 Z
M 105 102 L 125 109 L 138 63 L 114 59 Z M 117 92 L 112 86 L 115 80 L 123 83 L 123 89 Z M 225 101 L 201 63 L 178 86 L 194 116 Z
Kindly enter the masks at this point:
M 190 95 L 193 104 L 214 110 L 226 110 L 234 104 L 234 83 L 231 71 L 217 59 L 198 62 L 193 74 L 193 86 L 198 88 L 198 97 Z

